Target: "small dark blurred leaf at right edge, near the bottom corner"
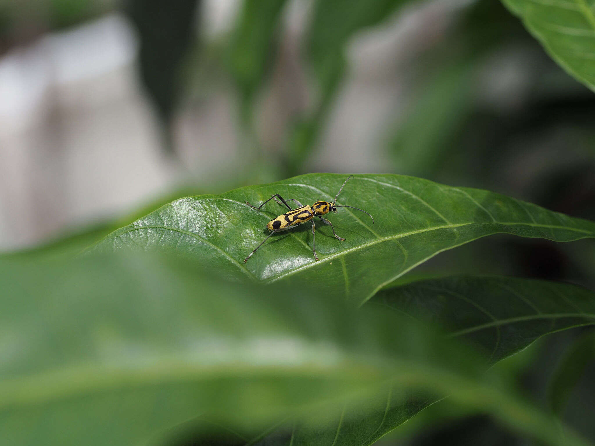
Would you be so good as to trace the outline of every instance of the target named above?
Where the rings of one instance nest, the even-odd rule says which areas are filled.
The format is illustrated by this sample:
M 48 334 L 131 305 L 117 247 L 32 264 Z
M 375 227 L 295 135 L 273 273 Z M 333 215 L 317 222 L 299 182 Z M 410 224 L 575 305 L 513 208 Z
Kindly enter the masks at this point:
M 595 361 L 595 332 L 589 332 L 572 344 L 556 370 L 549 388 L 550 406 L 562 416 L 572 390 L 576 387 L 588 365 Z

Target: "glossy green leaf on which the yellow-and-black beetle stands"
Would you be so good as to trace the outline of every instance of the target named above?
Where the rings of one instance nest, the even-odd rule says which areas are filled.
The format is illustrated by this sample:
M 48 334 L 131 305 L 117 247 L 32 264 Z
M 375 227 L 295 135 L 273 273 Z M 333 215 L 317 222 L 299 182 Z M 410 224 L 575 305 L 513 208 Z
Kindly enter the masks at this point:
M 243 187 L 215 196 L 177 200 L 108 235 L 90 249 L 114 252 L 140 249 L 173 252 L 228 278 L 282 283 L 321 294 L 343 294 L 354 303 L 447 249 L 486 235 L 508 233 L 571 241 L 595 237 L 595 224 L 485 190 L 443 186 L 402 175 L 355 175 L 328 216 L 340 237 L 316 220 L 312 255 L 309 224 L 273 235 L 248 263 L 244 259 L 267 237 L 267 222 L 287 209 L 273 200 L 302 203 L 333 200 L 345 175 L 308 174 L 273 184 Z

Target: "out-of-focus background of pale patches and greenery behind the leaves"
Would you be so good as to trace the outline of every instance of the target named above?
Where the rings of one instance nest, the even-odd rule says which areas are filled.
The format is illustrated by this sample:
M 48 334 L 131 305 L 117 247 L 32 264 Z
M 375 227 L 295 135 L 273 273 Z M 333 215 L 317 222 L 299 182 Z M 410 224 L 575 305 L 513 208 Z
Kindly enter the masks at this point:
M 0 248 L 54 258 L 175 197 L 313 171 L 415 175 L 593 220 L 594 118 L 593 92 L 497 0 L 1 0 Z M 593 288 L 594 266 L 593 240 L 502 235 L 416 272 Z M 585 331 L 497 367 L 547 401 Z M 586 357 L 555 410 L 595 441 Z M 447 401 L 424 418 L 381 444 L 527 444 Z

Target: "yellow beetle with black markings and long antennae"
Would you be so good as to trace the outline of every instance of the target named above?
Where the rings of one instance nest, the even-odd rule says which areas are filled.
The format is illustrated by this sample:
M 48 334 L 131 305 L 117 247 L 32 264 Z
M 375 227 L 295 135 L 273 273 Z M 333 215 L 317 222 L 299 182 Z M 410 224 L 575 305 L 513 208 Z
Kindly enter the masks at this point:
M 258 206 L 258 208 L 256 208 L 256 206 L 252 206 L 252 205 L 250 205 L 250 203 L 246 202 L 246 205 L 250 206 L 250 208 L 256 209 L 256 211 L 260 211 L 262 206 L 266 205 L 271 200 L 275 200 L 275 202 L 277 202 L 279 205 L 286 206 L 287 209 L 289 209 L 289 212 L 283 213 L 283 214 L 279 215 L 277 218 L 274 218 L 270 222 L 267 223 L 266 229 L 271 231 L 271 233 L 268 234 L 267 238 L 265 238 L 262 241 L 262 243 L 259 244 L 256 247 L 256 249 L 253 250 L 248 255 L 248 257 L 246 257 L 244 259 L 244 263 L 248 262 L 248 259 L 253 255 L 253 253 L 255 253 L 256 250 L 259 247 L 261 247 L 264 244 L 264 242 L 268 240 L 269 237 L 271 237 L 271 235 L 273 235 L 275 233 L 280 233 L 281 231 L 287 231 L 289 229 L 295 228 L 295 227 L 299 226 L 300 224 L 305 223 L 306 221 L 312 221 L 312 252 L 314 253 L 314 259 L 318 260 L 318 256 L 316 255 L 316 243 L 314 240 L 314 233 L 316 231 L 316 225 L 314 224 L 314 217 L 318 217 L 322 220 L 322 222 L 324 224 L 330 225 L 331 229 L 333 230 L 333 235 L 337 240 L 345 241 L 345 238 L 339 237 L 339 235 L 337 235 L 337 233 L 334 231 L 333 224 L 330 221 L 328 221 L 327 219 L 322 218 L 322 215 L 327 215 L 327 213 L 329 213 L 329 212 L 336 213 L 337 208 L 352 208 L 352 209 L 357 209 L 358 211 L 362 211 L 364 213 L 368 213 L 368 212 L 364 211 L 364 209 L 354 208 L 353 206 L 336 205 L 335 204 L 337 202 L 337 197 L 339 197 L 339 194 L 343 190 L 343 187 L 345 187 L 345 184 L 347 184 L 347 181 L 349 181 L 350 178 L 353 178 L 353 175 L 349 175 L 349 177 L 347 177 L 347 180 L 345 180 L 345 183 L 343 183 L 343 186 L 340 187 L 339 192 L 337 192 L 337 195 L 334 197 L 333 202 L 325 202 L 322 200 L 318 200 L 312 206 L 302 205 L 302 203 L 297 201 L 295 198 L 290 198 L 289 200 L 285 200 L 285 199 L 283 199 L 283 197 L 280 196 L 280 194 L 273 194 L 273 196 L 271 196 L 270 199 L 268 199 L 267 201 L 262 203 L 260 206 Z M 277 197 L 281 201 L 277 200 Z M 294 203 L 296 203 L 297 206 L 299 206 L 299 208 L 292 209 L 291 206 L 289 206 L 287 204 L 287 202 L 294 202 Z M 369 213 L 368 213 L 368 215 L 369 215 Z M 369 215 L 369 218 L 372 219 L 372 224 L 374 224 L 374 217 Z

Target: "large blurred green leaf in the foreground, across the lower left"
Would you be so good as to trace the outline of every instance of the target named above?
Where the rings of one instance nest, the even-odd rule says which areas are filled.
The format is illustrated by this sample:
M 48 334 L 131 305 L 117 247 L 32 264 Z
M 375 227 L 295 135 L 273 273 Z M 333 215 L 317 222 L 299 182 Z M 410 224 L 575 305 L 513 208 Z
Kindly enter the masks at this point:
M 394 312 L 299 290 L 279 299 L 149 256 L 0 262 L 7 444 L 139 444 L 205 412 L 258 426 L 332 414 L 354 391 L 359 416 L 388 378 L 396 396 L 452 394 L 548 444 L 586 444 L 559 441 L 551 417 L 485 376 L 473 351 Z

